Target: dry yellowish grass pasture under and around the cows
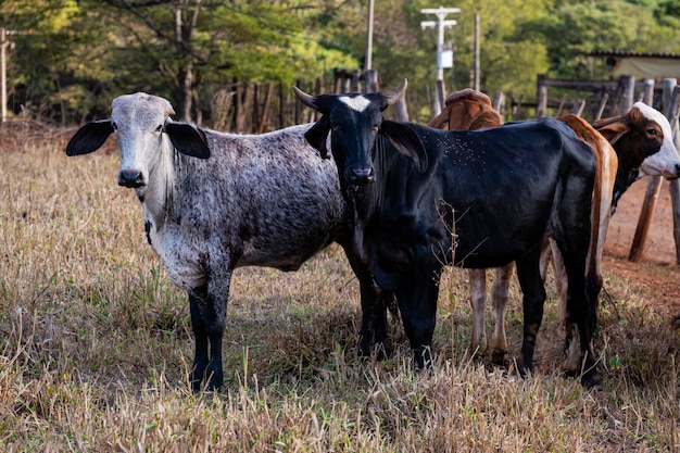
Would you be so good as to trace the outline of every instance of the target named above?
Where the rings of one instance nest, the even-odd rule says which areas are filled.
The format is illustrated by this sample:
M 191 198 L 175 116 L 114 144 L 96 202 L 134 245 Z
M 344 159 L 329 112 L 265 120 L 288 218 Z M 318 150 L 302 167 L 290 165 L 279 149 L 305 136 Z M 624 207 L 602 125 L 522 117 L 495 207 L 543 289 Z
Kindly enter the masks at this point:
M 116 185 L 115 140 L 66 158 L 74 131 L 0 127 L 1 451 L 680 451 L 680 330 L 654 291 L 606 263 L 601 392 L 558 373 L 552 282 L 536 376 L 473 358 L 459 269 L 442 280 L 431 373 L 411 372 L 398 320 L 390 358 L 356 358 L 357 282 L 333 246 L 297 273 L 236 273 L 225 386 L 191 394 L 186 295 L 147 244 L 133 190 Z M 672 266 L 640 272 L 680 280 Z M 517 354 L 516 284 L 513 298 Z

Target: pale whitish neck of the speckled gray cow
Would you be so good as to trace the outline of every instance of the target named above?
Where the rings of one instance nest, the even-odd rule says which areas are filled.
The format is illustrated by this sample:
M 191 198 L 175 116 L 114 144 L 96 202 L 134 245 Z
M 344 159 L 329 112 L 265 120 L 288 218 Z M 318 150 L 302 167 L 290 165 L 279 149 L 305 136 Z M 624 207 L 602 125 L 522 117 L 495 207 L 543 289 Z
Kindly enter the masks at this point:
M 149 184 L 142 189 L 137 189 L 137 197 L 144 210 L 144 217 L 156 226 L 164 223 L 172 205 L 176 153 L 177 151 L 175 151 L 169 138 L 163 135 L 161 155 L 155 165 L 149 169 Z

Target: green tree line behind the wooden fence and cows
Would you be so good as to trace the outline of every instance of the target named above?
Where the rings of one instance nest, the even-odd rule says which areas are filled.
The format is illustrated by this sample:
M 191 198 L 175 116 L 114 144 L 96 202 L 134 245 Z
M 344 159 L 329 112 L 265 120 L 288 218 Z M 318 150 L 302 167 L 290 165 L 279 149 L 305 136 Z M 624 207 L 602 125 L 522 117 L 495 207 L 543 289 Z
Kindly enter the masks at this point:
M 435 4 L 437 3 L 437 4 Z M 439 2 L 441 3 L 441 2 Z M 413 121 L 431 116 L 436 32 L 427 0 L 376 0 L 373 67 L 381 86 L 406 77 Z M 474 16 L 481 22 L 481 89 L 536 93 L 538 74 L 606 78 L 592 51 L 680 53 L 680 0 L 456 0 L 448 90 L 470 86 Z M 169 99 L 178 118 L 229 130 L 255 99 L 290 87 L 332 88 L 332 70 L 363 68 L 368 0 L 3 0 L 12 30 L 9 109 L 41 121 L 83 123 L 109 114 L 122 93 Z M 320 85 L 319 85 L 320 84 Z M 240 110 L 239 110 L 240 109 Z M 257 131 L 281 126 L 275 115 Z M 298 118 L 304 119 L 304 118 Z M 250 129 L 255 128 L 251 126 Z

